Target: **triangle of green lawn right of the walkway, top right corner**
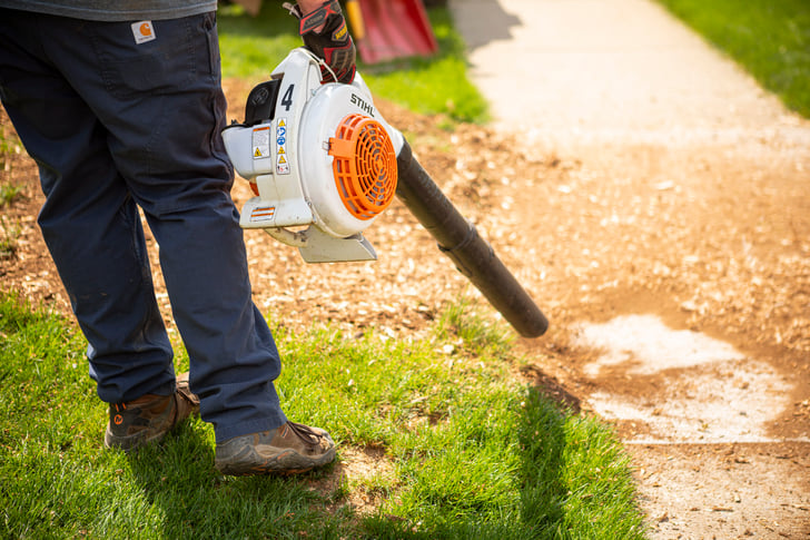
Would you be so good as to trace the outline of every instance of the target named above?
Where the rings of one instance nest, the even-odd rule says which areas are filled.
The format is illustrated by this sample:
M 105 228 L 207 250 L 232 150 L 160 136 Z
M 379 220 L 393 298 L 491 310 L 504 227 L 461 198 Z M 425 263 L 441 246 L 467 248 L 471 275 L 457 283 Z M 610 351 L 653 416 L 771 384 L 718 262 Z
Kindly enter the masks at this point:
M 810 118 L 810 2 L 660 2 L 742 65 L 787 107 Z

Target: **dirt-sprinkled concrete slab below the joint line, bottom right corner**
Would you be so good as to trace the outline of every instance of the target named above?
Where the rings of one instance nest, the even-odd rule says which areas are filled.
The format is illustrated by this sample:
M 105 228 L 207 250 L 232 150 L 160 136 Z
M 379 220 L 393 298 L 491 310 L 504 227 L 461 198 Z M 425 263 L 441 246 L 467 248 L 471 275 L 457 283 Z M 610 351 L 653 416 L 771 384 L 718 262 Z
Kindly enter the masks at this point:
M 806 444 L 629 445 L 656 538 L 807 538 Z M 700 531 L 695 533 L 695 531 Z

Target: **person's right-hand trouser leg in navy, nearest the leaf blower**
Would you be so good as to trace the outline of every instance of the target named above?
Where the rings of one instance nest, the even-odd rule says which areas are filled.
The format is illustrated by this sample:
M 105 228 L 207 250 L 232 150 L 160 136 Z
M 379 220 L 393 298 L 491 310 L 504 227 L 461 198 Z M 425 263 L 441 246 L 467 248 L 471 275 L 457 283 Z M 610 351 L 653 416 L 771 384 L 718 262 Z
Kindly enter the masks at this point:
M 275 430 L 286 418 L 273 384 L 278 352 L 251 300 L 229 195 L 215 20 L 208 13 L 151 21 L 155 39 L 141 43 L 129 22 L 77 23 L 55 36 L 48 52 L 93 104 L 158 240 L 191 391 L 224 441 Z

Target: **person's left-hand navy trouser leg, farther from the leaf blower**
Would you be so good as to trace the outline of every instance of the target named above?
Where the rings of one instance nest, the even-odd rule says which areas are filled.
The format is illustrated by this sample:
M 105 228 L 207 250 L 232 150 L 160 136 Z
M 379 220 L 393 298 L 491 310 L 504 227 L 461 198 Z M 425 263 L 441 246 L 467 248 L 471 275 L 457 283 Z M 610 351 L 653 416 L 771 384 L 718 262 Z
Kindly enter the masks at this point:
M 47 200 L 38 222 L 88 340 L 98 394 L 109 403 L 169 395 L 171 345 L 109 134 L 42 46 L 58 39 L 58 19 L 0 11 L 0 99 L 39 165 Z

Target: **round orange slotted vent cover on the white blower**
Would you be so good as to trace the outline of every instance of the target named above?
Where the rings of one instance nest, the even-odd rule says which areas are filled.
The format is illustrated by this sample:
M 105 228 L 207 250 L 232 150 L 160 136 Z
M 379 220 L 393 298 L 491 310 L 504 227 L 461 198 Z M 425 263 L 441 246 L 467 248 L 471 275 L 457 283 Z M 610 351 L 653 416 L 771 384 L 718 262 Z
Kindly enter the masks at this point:
M 346 209 L 357 219 L 381 214 L 394 199 L 397 164 L 383 126 L 363 115 L 348 115 L 329 139 L 335 185 Z

